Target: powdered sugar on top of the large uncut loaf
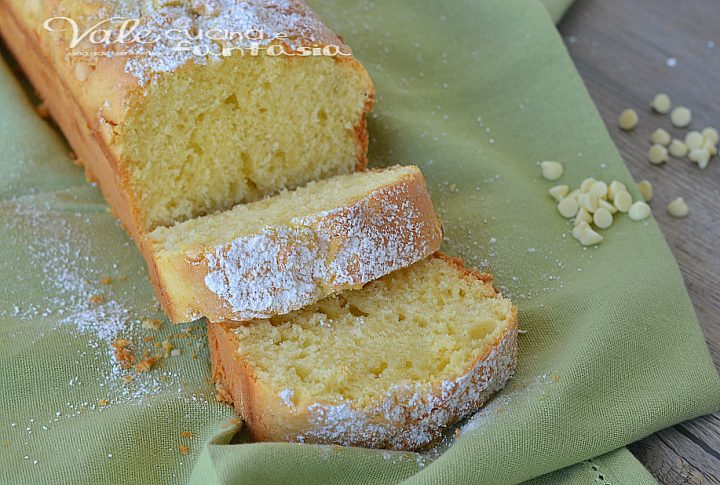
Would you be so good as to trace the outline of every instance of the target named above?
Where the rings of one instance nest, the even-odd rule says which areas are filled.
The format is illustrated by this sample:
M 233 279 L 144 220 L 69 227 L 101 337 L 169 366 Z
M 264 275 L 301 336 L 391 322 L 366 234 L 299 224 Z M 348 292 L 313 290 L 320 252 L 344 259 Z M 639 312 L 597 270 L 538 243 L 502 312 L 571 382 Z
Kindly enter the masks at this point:
M 291 51 L 299 46 L 338 45 L 342 43 L 300 0 L 110 0 L 98 9 L 96 20 L 120 17 L 139 19 L 139 28 L 150 32 L 154 43 L 124 46 L 131 55 L 125 71 L 142 86 L 158 74 L 177 70 L 194 62 L 207 64 L 237 49 L 267 47 L 281 42 Z M 119 23 L 116 25 L 119 29 Z M 172 32 L 230 32 L 229 38 L 205 35 L 182 38 Z M 260 38 L 254 33 L 262 32 Z

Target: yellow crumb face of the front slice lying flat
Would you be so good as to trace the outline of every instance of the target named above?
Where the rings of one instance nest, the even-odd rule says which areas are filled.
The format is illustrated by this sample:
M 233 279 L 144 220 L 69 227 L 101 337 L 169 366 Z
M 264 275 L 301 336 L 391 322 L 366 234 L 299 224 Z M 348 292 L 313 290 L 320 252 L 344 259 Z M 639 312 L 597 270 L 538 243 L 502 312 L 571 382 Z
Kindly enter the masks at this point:
M 458 378 L 512 322 L 488 283 L 433 257 L 234 332 L 237 357 L 267 392 L 300 408 L 363 406 L 394 386 Z

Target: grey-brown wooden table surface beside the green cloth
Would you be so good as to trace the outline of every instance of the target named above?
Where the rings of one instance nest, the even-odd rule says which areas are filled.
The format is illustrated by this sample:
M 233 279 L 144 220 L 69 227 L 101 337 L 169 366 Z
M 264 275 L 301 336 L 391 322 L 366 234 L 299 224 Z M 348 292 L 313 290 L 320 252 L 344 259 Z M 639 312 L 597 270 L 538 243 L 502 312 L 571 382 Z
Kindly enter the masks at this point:
M 658 92 L 692 110 L 691 129 L 720 129 L 720 0 L 577 0 L 559 28 L 630 172 L 653 184 L 653 213 L 720 368 L 720 159 L 706 170 L 687 160 L 647 161 L 656 128 L 674 138 L 687 132 L 650 112 Z M 640 115 L 632 133 L 617 127 L 625 108 Z M 678 196 L 690 206 L 685 219 L 666 212 Z M 720 484 L 720 414 L 661 431 L 630 450 L 662 483 Z

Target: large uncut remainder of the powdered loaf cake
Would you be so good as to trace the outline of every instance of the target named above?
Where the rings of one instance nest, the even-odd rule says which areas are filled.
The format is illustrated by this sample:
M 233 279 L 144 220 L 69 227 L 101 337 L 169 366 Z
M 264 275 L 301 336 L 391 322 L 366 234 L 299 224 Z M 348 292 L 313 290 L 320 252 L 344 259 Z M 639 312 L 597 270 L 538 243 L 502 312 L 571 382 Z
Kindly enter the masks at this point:
M 301 0 L 0 0 L 0 33 L 136 238 L 366 165 L 371 80 Z

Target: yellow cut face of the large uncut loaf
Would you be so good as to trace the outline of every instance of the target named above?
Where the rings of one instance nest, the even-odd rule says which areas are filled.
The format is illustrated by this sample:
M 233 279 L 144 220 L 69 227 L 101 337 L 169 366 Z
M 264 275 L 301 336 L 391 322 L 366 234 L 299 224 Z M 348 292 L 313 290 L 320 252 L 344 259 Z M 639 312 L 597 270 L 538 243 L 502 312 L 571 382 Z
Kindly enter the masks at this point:
M 233 55 L 149 83 L 115 128 L 144 229 L 352 172 L 370 89 L 322 56 Z

